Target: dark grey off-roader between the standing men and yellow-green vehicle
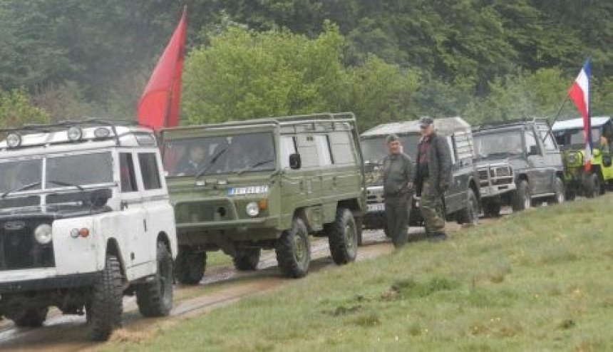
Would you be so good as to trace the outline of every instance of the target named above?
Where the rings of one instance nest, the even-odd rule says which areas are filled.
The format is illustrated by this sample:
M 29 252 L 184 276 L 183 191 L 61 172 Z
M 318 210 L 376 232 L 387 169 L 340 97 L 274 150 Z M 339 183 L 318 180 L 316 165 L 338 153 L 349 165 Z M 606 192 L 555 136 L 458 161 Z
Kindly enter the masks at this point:
M 473 128 L 473 135 L 478 157 L 490 162 L 508 162 L 515 180 L 515 190 L 505 193 L 500 202 L 485 202 L 484 206 L 488 207 L 485 212 L 496 215 L 500 205 L 511 205 L 514 211 L 519 211 L 544 200 L 565 201 L 562 157 L 547 120 L 480 125 Z M 506 174 L 504 171 L 502 175 Z

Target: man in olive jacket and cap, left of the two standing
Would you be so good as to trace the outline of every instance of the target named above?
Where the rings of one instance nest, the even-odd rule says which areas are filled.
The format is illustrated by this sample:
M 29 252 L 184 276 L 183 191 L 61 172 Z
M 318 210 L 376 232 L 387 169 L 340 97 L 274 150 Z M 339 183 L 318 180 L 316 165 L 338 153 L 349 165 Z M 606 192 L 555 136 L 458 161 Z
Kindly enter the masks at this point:
M 386 139 L 388 155 L 383 159 L 383 194 L 385 195 L 386 231 L 394 247 L 408 241 L 408 214 L 413 196 L 413 162 L 401 152 L 397 135 Z

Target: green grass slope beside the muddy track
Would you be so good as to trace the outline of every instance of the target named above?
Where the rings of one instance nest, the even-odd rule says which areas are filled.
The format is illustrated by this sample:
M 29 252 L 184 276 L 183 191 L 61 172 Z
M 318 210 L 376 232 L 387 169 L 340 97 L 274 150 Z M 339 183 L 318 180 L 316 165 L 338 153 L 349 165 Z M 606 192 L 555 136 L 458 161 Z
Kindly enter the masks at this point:
M 512 214 L 108 348 L 612 351 L 612 210 L 607 196 Z

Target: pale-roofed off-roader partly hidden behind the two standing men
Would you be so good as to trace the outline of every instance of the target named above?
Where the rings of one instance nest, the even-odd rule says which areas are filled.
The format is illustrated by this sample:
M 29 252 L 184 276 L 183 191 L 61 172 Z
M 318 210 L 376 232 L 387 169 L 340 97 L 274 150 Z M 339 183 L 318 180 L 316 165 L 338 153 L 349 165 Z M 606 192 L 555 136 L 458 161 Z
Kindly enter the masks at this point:
M 477 170 L 473 159 L 473 135 L 470 125 L 461 118 L 438 118 L 434 120 L 436 133 L 445 138 L 449 145 L 453 182 L 445 192 L 443 204 L 448 220 L 455 219 L 460 224 L 476 223 L 480 212 L 480 193 Z M 365 229 L 385 229 L 385 199 L 383 196 L 382 169 L 383 158 L 387 154 L 386 137 L 391 133 L 398 135 L 403 152 L 413 162 L 417 157 L 417 147 L 421 139 L 419 122 L 406 121 L 378 125 L 361 134 L 360 142 L 364 153 L 366 170 L 366 202 L 368 211 L 364 217 Z M 411 226 L 421 226 L 423 219 L 418 211 L 418 199 L 412 202 Z

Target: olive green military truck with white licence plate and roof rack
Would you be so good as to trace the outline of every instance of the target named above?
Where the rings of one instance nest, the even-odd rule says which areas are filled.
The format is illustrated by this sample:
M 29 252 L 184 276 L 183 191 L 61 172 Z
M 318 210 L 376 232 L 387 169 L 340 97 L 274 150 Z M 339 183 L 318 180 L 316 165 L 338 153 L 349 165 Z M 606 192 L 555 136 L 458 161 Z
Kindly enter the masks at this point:
M 182 284 L 200 282 L 206 252 L 220 249 L 239 270 L 275 249 L 285 276 L 304 276 L 309 234 L 329 238 L 336 264 L 356 259 L 366 197 L 354 114 L 166 128 L 161 139 Z

